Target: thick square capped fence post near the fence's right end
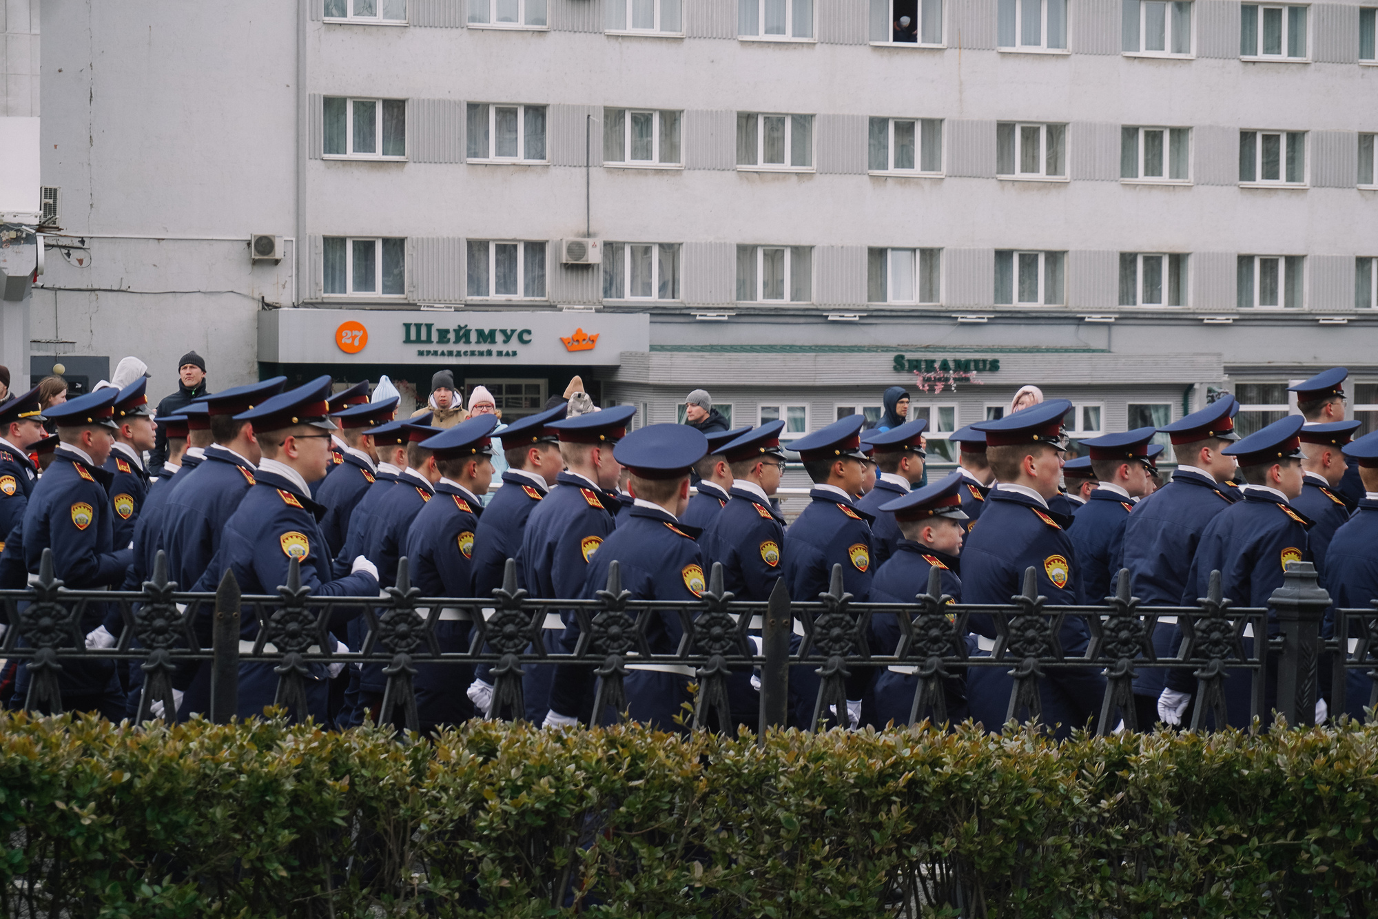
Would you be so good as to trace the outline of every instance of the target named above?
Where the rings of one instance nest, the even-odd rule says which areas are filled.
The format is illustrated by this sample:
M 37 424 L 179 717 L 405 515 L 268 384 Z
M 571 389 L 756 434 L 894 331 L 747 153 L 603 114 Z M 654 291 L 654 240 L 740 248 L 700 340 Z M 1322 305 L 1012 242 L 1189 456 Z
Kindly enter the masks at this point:
M 1310 562 L 1287 562 L 1283 586 L 1268 598 L 1283 634 L 1277 660 L 1277 710 L 1291 726 L 1316 723 L 1316 663 L 1320 621 L 1330 608 L 1330 594 L 1316 583 Z M 1254 641 L 1268 641 L 1254 635 Z

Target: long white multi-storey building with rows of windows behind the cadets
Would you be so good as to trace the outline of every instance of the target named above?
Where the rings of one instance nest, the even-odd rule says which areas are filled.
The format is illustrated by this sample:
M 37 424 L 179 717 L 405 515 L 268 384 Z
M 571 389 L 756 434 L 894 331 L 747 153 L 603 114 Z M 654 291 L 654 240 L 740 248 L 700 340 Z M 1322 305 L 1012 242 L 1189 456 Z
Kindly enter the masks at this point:
M 1378 420 L 1366 3 L 44 0 L 34 372 Z

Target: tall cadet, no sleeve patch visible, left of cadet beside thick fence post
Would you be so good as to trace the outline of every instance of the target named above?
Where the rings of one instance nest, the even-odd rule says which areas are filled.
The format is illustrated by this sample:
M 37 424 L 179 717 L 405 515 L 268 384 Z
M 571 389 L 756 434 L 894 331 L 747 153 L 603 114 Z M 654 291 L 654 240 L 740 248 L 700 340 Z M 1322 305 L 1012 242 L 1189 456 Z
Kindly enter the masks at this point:
M 1239 497 L 1239 492 L 1226 485 L 1235 475 L 1235 457 L 1224 452 L 1239 440 L 1235 405 L 1233 397 L 1225 397 L 1159 428 L 1173 442 L 1177 470 L 1167 485 L 1141 500 L 1124 521 L 1122 550 L 1133 595 L 1145 608 L 1182 602 L 1202 532 Z M 1196 605 L 1195 598 L 1191 605 Z M 1153 650 L 1159 657 L 1177 654 L 1174 626 L 1160 619 L 1153 630 Z M 1134 707 L 1141 729 L 1158 721 L 1158 697 L 1164 678 L 1166 671 L 1148 667 L 1134 678 Z

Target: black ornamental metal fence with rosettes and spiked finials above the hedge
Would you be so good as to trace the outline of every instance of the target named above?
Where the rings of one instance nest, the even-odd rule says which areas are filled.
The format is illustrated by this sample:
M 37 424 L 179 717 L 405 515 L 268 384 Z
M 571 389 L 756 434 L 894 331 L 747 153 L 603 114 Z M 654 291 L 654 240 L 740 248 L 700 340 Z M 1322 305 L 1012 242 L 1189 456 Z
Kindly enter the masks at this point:
M 1370 681 L 1368 704 L 1378 704 L 1378 601 L 1375 608 L 1334 610 L 1333 637 L 1323 635 L 1330 610 L 1327 592 L 1316 583 L 1308 562 L 1290 562 L 1282 588 L 1266 609 L 1235 608 L 1221 598 L 1220 575 L 1213 572 L 1207 597 L 1191 608 L 1140 608 L 1130 597 L 1129 572 L 1122 570 L 1118 592 L 1102 606 L 1056 606 L 1036 592 L 1035 570 L 1024 576 L 1024 590 L 1007 605 L 954 603 L 941 594 L 938 572 L 930 572 L 927 591 L 912 603 L 861 603 L 842 590 L 841 566 L 832 586 L 816 599 L 794 601 L 784 583 L 776 584 L 769 602 L 740 602 L 722 588 L 721 566 L 714 565 L 710 584 L 697 603 L 633 599 L 621 588 L 617 564 L 609 565 L 608 584 L 595 599 L 532 598 L 517 587 L 515 562 L 508 559 L 504 586 L 489 598 L 422 597 L 411 586 L 407 559 L 401 559 L 397 586 L 383 597 L 313 597 L 303 588 L 296 561 L 288 583 L 273 595 L 241 595 L 230 572 L 215 594 L 178 591 L 167 580 L 163 554 L 153 580 L 142 591 L 68 590 L 54 579 L 51 551 L 44 551 L 37 579 L 22 591 L 0 591 L 12 628 L 0 645 L 0 657 L 26 661 L 32 675 L 25 708 L 40 712 L 62 710 L 59 675 L 65 661 L 124 660 L 138 663 L 145 674 L 138 721 L 163 701 L 174 711 L 172 675 L 183 661 L 211 667 L 209 718 L 227 722 L 237 708 L 241 664 L 273 664 L 278 675 L 277 699 L 294 716 L 306 707 L 306 681 L 311 664 L 376 663 L 384 665 L 383 722 L 418 727 L 412 677 L 416 664 L 489 664 L 495 683 L 492 712 L 524 711 L 522 674 L 529 665 L 573 664 L 598 675 L 594 711 L 626 707 L 623 679 L 628 665 L 672 665 L 693 672 L 697 682 L 693 726 L 730 730 L 728 678 L 733 671 L 758 668 L 761 725 L 787 722 L 788 683 L 792 667 L 810 667 L 820 675 L 812 727 L 836 722 L 845 711 L 846 681 L 856 668 L 912 668 L 916 688 L 909 721 L 947 719 L 948 688 L 944 681 L 963 668 L 1005 668 L 1013 678 L 1007 718 L 1038 716 L 1039 683 L 1051 671 L 1090 668 L 1107 677 L 1097 730 L 1107 733 L 1123 721 L 1137 730 L 1131 685 L 1135 671 L 1184 668 L 1196 681 L 1192 729 L 1213 716 L 1224 725 L 1224 682 L 1233 672 L 1251 679 L 1251 714 L 1269 716 L 1265 688 L 1276 679 L 1276 708 L 1290 725 L 1310 725 L 1319 679 L 1328 672 L 1333 711 L 1346 701 L 1346 674 L 1360 671 Z M 92 603 L 119 605 L 124 628 L 114 648 L 88 649 L 83 621 Z M 473 623 L 464 652 L 442 653 L 435 624 L 444 610 L 460 610 Z M 546 650 L 547 617 L 564 610 L 577 621 L 580 635 L 572 653 Z M 258 621 L 252 650 L 241 652 L 241 617 Z M 332 653 L 328 632 L 354 616 L 367 620 L 367 639 L 351 653 Z M 652 617 L 677 620 L 682 630 L 678 648 L 656 653 L 648 641 Z M 892 616 L 898 626 L 896 648 L 872 648 L 870 623 Z M 973 616 L 994 623 L 998 638 L 984 654 L 969 653 L 967 626 Z M 1078 617 L 1090 632 L 1082 654 L 1067 653 L 1060 631 L 1068 617 Z M 1175 619 L 1181 643 L 1171 657 L 1155 654 L 1153 634 Z M 1167 620 L 1167 621 L 1164 621 Z M 212 623 L 205 628 L 207 623 Z M 761 650 L 748 637 L 759 632 Z M 795 645 L 791 634 L 799 635 Z M 22 638 L 22 641 L 21 641 Z M 791 645 L 795 645 L 791 649 Z

